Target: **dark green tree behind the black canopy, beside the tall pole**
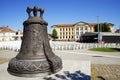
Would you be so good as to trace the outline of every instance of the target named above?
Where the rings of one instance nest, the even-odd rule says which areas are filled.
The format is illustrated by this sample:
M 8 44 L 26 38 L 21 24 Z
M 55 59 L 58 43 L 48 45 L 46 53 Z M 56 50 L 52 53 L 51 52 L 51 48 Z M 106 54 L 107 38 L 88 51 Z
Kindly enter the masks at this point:
M 97 24 L 94 27 L 94 31 L 98 32 L 98 25 Z M 99 24 L 99 31 L 100 32 L 111 32 L 109 24 L 108 23 Z

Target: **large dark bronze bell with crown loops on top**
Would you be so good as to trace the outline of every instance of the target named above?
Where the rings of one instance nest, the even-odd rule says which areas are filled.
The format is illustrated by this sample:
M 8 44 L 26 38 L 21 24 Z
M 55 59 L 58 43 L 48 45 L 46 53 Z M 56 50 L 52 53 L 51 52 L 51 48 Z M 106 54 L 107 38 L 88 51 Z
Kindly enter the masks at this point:
M 19 54 L 8 64 L 8 72 L 19 77 L 37 77 L 56 73 L 62 69 L 62 60 L 50 47 L 44 9 L 27 7 L 29 18 L 24 21 L 23 39 Z M 40 16 L 37 16 L 38 11 Z M 33 16 L 31 16 L 33 12 Z

